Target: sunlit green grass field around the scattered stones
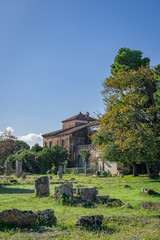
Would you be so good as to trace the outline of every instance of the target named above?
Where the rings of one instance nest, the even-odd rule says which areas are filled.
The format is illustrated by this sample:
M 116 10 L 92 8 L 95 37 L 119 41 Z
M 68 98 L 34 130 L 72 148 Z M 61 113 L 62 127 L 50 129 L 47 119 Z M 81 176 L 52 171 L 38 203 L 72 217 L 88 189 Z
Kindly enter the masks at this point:
M 61 181 L 52 175 L 50 180 L 50 197 L 36 198 L 34 195 L 34 180 L 38 176 L 27 175 L 26 180 L 18 179 L 17 183 L 10 183 L 6 177 L 0 177 L 0 211 L 17 208 L 19 210 L 53 209 L 57 217 L 57 224 L 52 228 L 39 229 L 9 229 L 0 228 L 0 239 L 160 239 L 160 209 L 145 210 L 140 202 L 160 202 L 160 178 L 148 179 L 146 176 L 133 178 L 132 176 L 98 178 L 95 176 L 64 175 Z M 106 207 L 97 204 L 94 207 L 64 206 L 54 201 L 54 188 L 59 182 L 70 181 L 74 187 L 97 187 L 99 194 L 118 198 L 123 205 L 129 203 L 132 208 Z M 124 185 L 131 188 L 124 188 Z M 141 188 L 152 189 L 159 194 L 146 195 Z M 149 220 L 147 223 L 136 218 L 104 219 L 101 229 L 76 228 L 78 216 L 102 214 L 138 216 Z

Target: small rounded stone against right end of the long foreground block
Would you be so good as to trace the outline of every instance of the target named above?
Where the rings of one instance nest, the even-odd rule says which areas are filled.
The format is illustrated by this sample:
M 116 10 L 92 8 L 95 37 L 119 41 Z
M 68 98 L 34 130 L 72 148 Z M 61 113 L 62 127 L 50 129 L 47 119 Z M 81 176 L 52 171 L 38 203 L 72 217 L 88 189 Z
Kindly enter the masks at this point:
M 51 209 L 46 209 L 43 211 L 37 211 L 37 220 L 40 225 L 50 226 L 52 224 L 55 224 L 57 221 L 57 218 L 54 215 L 54 211 Z

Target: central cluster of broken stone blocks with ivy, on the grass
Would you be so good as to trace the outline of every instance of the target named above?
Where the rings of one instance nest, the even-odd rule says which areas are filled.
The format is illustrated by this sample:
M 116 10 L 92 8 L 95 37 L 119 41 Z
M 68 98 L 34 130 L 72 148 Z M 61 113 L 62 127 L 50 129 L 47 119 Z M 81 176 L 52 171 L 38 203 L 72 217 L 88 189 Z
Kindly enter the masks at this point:
M 73 195 L 73 192 L 76 196 Z M 57 202 L 74 203 L 81 206 L 94 204 L 95 202 L 105 203 L 108 195 L 98 195 L 95 187 L 75 188 L 72 183 L 65 183 L 55 187 L 54 199 Z

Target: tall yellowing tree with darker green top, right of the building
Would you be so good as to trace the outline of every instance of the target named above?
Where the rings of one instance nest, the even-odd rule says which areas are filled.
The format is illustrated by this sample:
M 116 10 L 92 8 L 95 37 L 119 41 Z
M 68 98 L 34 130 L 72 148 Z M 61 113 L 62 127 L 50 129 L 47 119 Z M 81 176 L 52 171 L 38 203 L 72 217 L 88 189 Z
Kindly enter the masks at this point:
M 125 52 L 126 56 L 122 50 L 111 66 L 111 76 L 103 83 L 106 113 L 100 119 L 100 130 L 94 141 L 109 161 L 131 163 L 135 176 L 136 163 L 145 162 L 149 175 L 156 177 L 160 168 L 158 73 L 147 66 L 148 58 L 135 54 L 137 51 L 127 49 L 129 57 L 121 62 L 119 55 Z M 135 55 L 141 63 L 135 61 Z M 156 171 L 151 172 L 150 163 L 156 165 Z

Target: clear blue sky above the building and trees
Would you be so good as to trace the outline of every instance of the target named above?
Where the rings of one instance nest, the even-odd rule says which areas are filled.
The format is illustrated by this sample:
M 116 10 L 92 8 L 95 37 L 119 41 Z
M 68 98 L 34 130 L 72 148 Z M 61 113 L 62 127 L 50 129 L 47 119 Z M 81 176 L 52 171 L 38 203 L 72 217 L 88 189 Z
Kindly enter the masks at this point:
M 159 0 L 0 0 L 0 131 L 30 144 L 80 111 L 103 113 L 121 47 L 160 63 Z

